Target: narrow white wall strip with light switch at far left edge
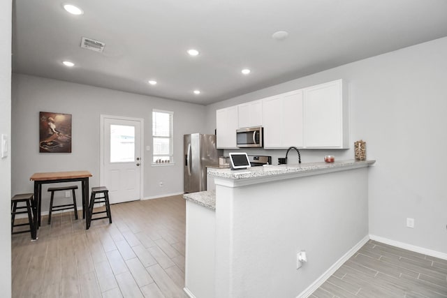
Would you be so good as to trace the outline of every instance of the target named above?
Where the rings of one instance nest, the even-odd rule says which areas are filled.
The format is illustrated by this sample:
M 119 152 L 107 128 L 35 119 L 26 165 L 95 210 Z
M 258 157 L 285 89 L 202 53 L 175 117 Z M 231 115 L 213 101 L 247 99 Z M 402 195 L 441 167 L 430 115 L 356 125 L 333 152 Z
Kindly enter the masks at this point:
M 11 1 L 0 1 L 0 135 L 11 129 Z M 10 144 L 8 145 L 10 149 Z M 10 151 L 10 150 L 9 150 Z M 0 159 L 0 288 L 11 297 L 11 157 Z

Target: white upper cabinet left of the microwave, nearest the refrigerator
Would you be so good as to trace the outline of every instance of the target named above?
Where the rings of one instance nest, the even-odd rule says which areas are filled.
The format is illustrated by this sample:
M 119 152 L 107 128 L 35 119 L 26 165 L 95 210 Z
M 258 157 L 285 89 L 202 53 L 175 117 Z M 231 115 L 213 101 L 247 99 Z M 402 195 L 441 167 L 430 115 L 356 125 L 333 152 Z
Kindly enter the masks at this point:
M 237 148 L 237 105 L 216 111 L 216 130 L 217 148 Z

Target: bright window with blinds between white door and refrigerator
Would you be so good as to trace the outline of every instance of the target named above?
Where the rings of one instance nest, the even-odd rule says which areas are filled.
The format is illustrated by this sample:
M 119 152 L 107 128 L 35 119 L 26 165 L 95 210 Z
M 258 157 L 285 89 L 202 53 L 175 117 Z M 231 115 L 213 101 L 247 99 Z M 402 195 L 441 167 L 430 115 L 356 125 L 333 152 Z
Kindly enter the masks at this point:
M 152 163 L 174 163 L 173 117 L 174 112 L 152 110 Z

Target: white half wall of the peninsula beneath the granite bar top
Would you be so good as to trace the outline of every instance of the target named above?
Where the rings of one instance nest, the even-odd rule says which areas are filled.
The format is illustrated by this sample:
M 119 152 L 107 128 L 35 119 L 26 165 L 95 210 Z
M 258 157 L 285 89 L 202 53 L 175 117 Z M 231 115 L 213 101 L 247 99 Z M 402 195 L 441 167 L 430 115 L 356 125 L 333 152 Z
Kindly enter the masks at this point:
M 369 170 L 264 177 L 234 188 L 228 184 L 238 181 L 215 177 L 215 297 L 297 297 L 364 244 Z M 300 251 L 308 262 L 297 270 Z

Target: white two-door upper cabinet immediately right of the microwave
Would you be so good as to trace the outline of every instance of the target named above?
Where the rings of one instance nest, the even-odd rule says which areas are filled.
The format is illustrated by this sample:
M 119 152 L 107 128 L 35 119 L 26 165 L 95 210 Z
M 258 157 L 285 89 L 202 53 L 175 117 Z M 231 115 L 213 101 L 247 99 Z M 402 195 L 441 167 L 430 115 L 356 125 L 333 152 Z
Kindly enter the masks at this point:
M 302 90 L 263 99 L 264 148 L 302 147 Z

